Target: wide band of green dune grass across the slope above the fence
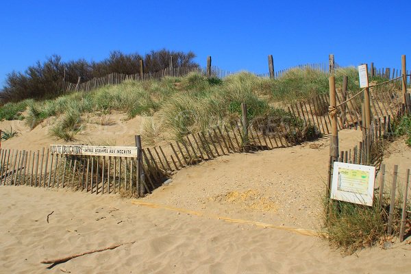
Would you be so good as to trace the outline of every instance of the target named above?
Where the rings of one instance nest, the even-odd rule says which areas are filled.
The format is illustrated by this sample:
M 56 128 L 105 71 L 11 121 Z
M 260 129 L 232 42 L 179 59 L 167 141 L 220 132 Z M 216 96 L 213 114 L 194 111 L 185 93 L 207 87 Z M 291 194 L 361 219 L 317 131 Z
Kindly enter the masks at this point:
M 336 70 L 337 85 L 341 84 L 342 75 L 349 76 L 349 88 L 358 89 L 355 68 Z M 327 92 L 328 73 L 312 69 L 292 69 L 279 79 L 264 79 L 247 72 L 224 79 L 190 73 L 185 77 L 165 77 L 161 82 L 129 80 L 87 93 L 73 92 L 50 100 L 8 103 L 0 108 L 0 119 L 24 118 L 27 126 L 33 129 L 45 119 L 56 116 L 51 136 L 71 140 L 82 128 L 84 120 L 81 117 L 86 113 L 116 111 L 132 119 L 136 115 L 152 116 L 157 112 L 160 121 L 156 121 L 156 131 L 166 129 L 178 139 L 189 132 L 205 130 L 211 124 L 238 119 L 241 103 L 247 103 L 247 114 L 252 120 L 279 115 L 280 112 L 271 107 L 275 101 L 290 102 Z M 26 108 L 27 114 L 23 117 Z

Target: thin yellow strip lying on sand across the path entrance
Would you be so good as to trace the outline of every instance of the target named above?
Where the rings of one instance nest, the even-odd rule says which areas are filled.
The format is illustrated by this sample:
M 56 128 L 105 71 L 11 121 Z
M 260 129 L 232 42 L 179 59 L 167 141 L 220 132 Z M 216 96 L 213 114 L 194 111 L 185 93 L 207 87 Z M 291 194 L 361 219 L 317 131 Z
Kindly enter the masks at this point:
M 306 236 L 326 236 L 322 232 L 316 232 L 314 230 L 310 229 L 303 229 L 303 228 L 296 228 L 296 227 L 286 227 L 284 225 L 272 225 L 270 223 L 261 223 L 261 222 L 256 222 L 256 221 L 248 221 L 248 220 L 242 220 L 242 219 L 232 219 L 224 216 L 217 216 L 213 214 L 206 214 L 204 212 L 197 212 L 193 210 L 186 210 L 184 208 L 173 208 L 171 206 L 164 206 L 160 205 L 158 203 L 148 203 L 145 201 L 138 201 L 134 200 L 132 201 L 135 205 L 138 206 L 145 206 L 147 208 L 162 208 L 164 210 L 172 210 L 176 212 L 182 212 L 186 214 L 191 214 L 195 216 L 206 216 L 210 219 L 217 219 L 217 220 L 223 220 L 228 223 L 243 223 L 243 224 L 249 224 L 249 225 L 256 225 L 258 227 L 264 227 L 264 228 L 273 228 L 273 229 L 279 229 L 279 230 L 286 230 L 288 232 L 293 232 L 301 235 L 306 235 Z

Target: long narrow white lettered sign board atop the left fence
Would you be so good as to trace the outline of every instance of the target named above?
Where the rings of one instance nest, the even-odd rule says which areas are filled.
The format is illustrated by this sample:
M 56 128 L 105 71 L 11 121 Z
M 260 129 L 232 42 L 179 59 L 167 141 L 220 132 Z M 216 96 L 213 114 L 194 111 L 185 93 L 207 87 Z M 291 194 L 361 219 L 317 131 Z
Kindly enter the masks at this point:
M 137 157 L 137 147 L 104 147 L 86 145 L 50 145 L 50 152 L 68 155 Z

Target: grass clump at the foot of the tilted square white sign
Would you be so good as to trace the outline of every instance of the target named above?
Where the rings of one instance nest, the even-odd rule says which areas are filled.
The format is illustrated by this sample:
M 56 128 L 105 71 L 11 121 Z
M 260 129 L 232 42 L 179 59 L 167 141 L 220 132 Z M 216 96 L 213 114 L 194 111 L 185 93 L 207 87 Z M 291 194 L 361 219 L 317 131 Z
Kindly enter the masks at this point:
M 401 185 L 401 184 L 400 184 Z M 382 201 L 374 195 L 373 206 L 323 198 L 322 234 L 330 245 L 350 255 L 358 249 L 384 244 L 399 235 L 403 195 L 397 192 L 393 210 L 392 235 L 387 234 L 390 190 L 384 192 Z M 410 210 L 410 203 L 406 210 Z

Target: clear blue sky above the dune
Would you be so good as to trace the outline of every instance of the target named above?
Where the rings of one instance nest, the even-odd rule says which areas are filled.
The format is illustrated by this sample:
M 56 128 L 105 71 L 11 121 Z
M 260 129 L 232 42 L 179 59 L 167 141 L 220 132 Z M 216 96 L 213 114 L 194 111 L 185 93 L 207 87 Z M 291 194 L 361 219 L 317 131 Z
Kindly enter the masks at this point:
M 390 3 L 391 2 L 391 3 Z M 265 73 L 305 63 L 411 69 L 411 1 L 1 1 L 0 86 L 54 53 L 99 61 L 110 51 L 192 50 L 197 62 Z

